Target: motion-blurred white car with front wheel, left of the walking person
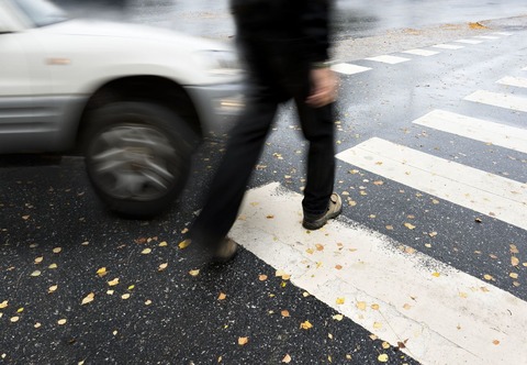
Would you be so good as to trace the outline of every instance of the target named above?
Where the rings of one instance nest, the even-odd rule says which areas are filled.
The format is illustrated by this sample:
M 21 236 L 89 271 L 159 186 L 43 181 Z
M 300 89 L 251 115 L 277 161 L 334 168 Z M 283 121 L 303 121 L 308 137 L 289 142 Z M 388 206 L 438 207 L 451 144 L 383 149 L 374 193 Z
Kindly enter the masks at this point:
M 242 93 L 227 44 L 0 0 L 0 153 L 82 153 L 116 212 L 166 209 L 197 142 L 238 111 Z

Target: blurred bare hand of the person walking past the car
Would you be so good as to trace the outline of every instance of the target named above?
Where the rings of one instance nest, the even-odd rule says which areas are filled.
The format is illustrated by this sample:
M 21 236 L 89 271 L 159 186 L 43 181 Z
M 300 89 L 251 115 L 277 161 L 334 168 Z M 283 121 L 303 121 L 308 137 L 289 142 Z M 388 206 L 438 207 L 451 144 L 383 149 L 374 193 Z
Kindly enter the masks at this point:
M 305 102 L 313 108 L 321 108 L 337 99 L 338 78 L 329 68 L 314 68 L 310 73 L 312 89 Z

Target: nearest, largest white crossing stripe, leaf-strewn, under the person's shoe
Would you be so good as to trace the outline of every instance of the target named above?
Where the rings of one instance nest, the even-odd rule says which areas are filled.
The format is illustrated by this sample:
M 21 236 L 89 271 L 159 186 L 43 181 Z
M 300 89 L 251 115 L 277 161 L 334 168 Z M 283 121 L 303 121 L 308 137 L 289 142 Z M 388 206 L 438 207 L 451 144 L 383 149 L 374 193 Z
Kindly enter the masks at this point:
M 248 191 L 229 236 L 423 364 L 525 363 L 525 301 L 345 218 L 309 232 L 301 200 L 278 182 Z

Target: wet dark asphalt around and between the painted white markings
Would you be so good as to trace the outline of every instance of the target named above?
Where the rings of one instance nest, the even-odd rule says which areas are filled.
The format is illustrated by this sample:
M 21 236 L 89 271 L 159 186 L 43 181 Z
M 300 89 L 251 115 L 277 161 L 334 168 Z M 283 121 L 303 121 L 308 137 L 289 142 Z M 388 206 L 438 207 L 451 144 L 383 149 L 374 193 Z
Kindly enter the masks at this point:
M 461 101 L 503 75 L 520 74 L 526 31 L 516 31 L 496 43 L 400 65 L 355 60 L 374 69 L 341 77 L 337 152 L 377 136 L 527 181 L 522 153 L 411 123 L 448 108 L 525 128 L 522 113 Z M 223 137 L 205 141 L 179 203 L 150 221 L 108 212 L 78 157 L 0 157 L 0 303 L 8 301 L 0 309 L 0 363 L 277 364 L 289 355 L 294 364 L 378 364 L 383 353 L 388 364 L 416 363 L 351 320 L 333 320 L 333 309 L 244 248 L 233 263 L 214 266 L 192 246 L 179 247 L 223 147 Z M 250 186 L 280 181 L 300 192 L 304 148 L 291 106 L 284 106 L 259 163 L 266 167 L 255 170 Z M 519 286 L 509 276 L 512 243 L 527 262 L 525 230 L 489 217 L 478 222 L 473 211 L 442 200 L 431 204 L 431 196 L 337 165 L 336 191 L 357 202 L 346 208 L 347 218 L 472 276 L 492 275 L 493 285 L 527 300 L 527 268 L 514 268 Z M 382 186 L 373 184 L 380 179 Z M 408 217 L 418 230 L 401 228 Z M 430 239 L 433 231 L 438 235 Z M 305 321 L 313 328 L 301 329 Z M 238 344 L 243 338 L 245 345 Z

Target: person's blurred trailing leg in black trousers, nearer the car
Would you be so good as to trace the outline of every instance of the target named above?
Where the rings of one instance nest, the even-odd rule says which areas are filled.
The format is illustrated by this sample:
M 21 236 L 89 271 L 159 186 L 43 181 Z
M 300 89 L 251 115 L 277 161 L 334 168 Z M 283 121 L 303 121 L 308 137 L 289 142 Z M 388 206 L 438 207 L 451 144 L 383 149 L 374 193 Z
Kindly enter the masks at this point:
M 205 204 L 191 228 L 191 239 L 214 254 L 234 224 L 278 108 L 254 98 L 231 131 L 225 155 L 212 180 Z

